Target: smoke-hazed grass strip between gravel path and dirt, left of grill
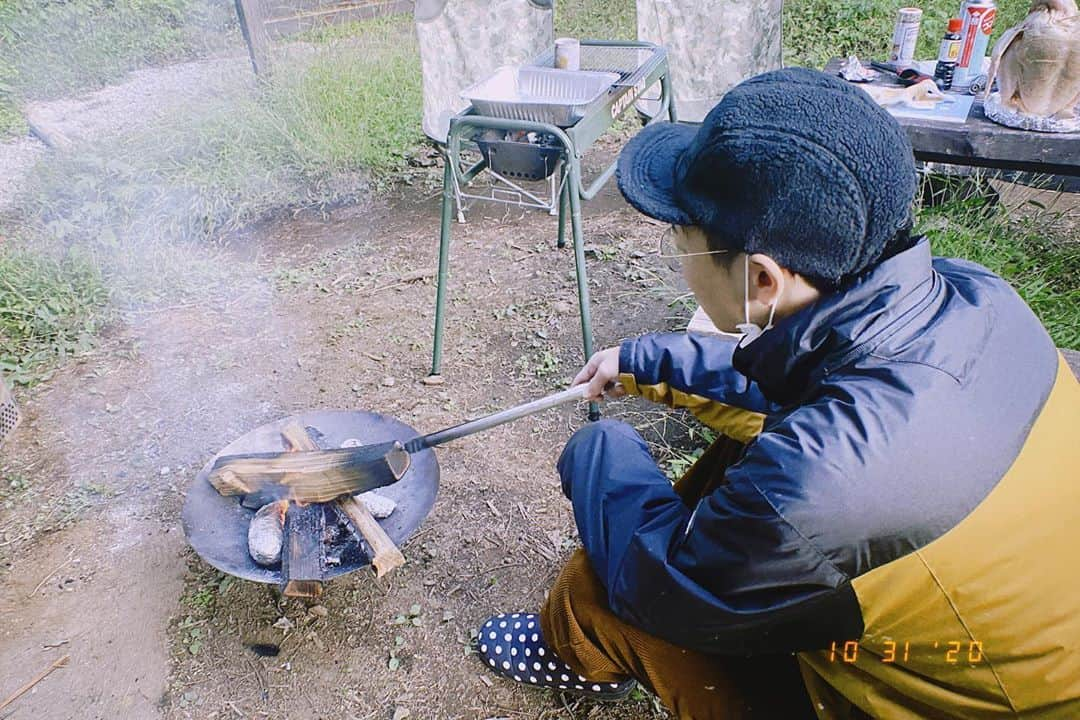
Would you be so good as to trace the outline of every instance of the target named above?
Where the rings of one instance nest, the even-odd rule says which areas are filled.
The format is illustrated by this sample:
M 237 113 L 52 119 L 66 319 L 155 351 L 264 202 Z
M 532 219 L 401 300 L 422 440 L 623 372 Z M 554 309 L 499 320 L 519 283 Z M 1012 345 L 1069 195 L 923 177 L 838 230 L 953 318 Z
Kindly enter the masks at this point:
M 393 19 L 376 28 L 413 37 Z M 279 208 L 352 200 L 420 140 L 415 42 L 382 44 L 320 50 L 194 118 L 50 158 L 22 204 L 65 243 L 109 246 L 202 241 Z

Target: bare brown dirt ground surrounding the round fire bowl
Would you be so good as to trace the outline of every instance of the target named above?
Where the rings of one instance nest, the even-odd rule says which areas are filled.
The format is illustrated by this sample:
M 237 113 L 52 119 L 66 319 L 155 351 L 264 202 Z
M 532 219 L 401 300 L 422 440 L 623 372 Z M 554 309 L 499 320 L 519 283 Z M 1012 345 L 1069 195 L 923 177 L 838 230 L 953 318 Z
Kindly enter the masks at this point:
M 597 348 L 688 315 L 645 255 L 659 228 L 616 192 L 585 205 Z M 70 661 L 0 720 L 665 717 L 642 693 L 594 705 L 513 687 L 470 650 L 489 614 L 536 609 L 577 545 L 554 463 L 581 408 L 438 449 L 438 498 L 405 567 L 333 581 L 318 608 L 214 570 L 180 526 L 202 465 L 265 422 L 363 408 L 430 431 L 561 386 L 583 357 L 555 229 L 490 204 L 455 225 L 443 385 L 420 382 L 434 282 L 410 280 L 437 257 L 429 184 L 193 249 L 225 271 L 203 301 L 126 315 L 23 393 L 0 458 L 0 698 Z M 606 412 L 661 454 L 687 422 L 630 400 Z

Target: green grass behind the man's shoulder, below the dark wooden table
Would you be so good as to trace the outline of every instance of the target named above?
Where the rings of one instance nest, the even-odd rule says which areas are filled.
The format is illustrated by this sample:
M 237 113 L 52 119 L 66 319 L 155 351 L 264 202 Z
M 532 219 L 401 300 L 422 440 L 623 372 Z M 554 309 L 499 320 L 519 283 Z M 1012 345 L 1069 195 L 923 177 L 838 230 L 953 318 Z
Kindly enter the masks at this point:
M 1080 241 L 1075 219 L 1038 201 L 1009 212 L 980 199 L 953 200 L 919 214 L 934 255 L 978 262 L 1016 289 L 1059 348 L 1080 350 Z

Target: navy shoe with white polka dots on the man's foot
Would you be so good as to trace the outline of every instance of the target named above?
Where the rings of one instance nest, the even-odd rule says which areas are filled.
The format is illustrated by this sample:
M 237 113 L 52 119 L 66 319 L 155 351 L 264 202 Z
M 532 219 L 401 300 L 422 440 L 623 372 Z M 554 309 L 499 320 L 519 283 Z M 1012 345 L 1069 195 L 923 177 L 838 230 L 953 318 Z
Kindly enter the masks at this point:
M 515 612 L 489 619 L 476 638 L 480 657 L 499 675 L 536 688 L 583 695 L 595 699 L 620 699 L 634 689 L 634 680 L 594 682 L 564 663 L 540 635 L 540 616 Z

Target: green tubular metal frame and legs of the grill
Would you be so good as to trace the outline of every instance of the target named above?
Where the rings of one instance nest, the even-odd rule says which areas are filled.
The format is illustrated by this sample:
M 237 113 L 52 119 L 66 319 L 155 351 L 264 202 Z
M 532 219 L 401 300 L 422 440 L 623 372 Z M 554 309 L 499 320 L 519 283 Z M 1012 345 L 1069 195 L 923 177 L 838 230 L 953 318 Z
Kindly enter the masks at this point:
M 654 47 L 654 45 L 647 42 L 589 42 L 598 45 Z M 562 145 L 563 162 L 561 166 L 563 176 L 559 178 L 558 184 L 561 191 L 558 198 L 557 244 L 561 248 L 566 246 L 566 214 L 569 209 L 570 232 L 573 239 L 573 261 L 578 280 L 578 305 L 581 314 L 581 337 L 585 351 L 585 359 L 589 359 L 593 354 L 593 329 L 589 312 L 589 277 L 585 269 L 585 250 L 581 232 L 581 203 L 582 201 L 595 198 L 607 181 L 611 179 L 611 176 L 615 175 L 618 161 L 612 162 L 585 187 L 581 175 L 581 157 L 623 112 L 634 107 L 634 101 L 658 80 L 660 81 L 661 89 L 660 109 L 649 121 L 649 124 L 659 121 L 664 116 L 667 116 L 672 122 L 675 122 L 676 118 L 674 106 L 672 105 L 671 78 L 669 76 L 666 57 L 642 82 L 637 83 L 634 87 L 627 89 L 626 92 L 611 94 L 604 105 L 589 112 L 572 127 L 563 128 L 548 123 L 478 116 L 472 108 L 450 119 L 450 130 L 444 148 L 443 214 L 438 239 L 438 280 L 435 291 L 435 337 L 432 349 L 431 375 L 437 376 L 442 369 L 443 332 L 446 323 L 446 284 L 450 259 L 450 223 L 454 214 L 455 188 L 464 187 L 487 167 L 487 163 L 481 160 L 468 168 L 462 168 L 462 137 L 471 137 L 472 133 L 476 130 L 521 131 L 553 135 Z M 627 93 L 633 94 L 633 97 L 626 98 Z M 617 103 L 622 104 L 621 108 L 617 109 Z M 599 412 L 596 404 L 590 404 L 590 419 L 595 420 L 598 417 Z

